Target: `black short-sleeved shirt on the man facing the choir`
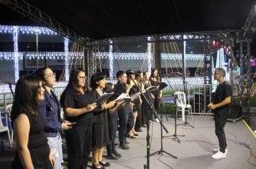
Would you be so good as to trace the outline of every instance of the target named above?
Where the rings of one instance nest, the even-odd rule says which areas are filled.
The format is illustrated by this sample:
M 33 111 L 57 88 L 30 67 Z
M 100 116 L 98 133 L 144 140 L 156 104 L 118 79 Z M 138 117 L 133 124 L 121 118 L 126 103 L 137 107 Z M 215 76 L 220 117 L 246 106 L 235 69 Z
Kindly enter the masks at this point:
M 228 82 L 224 81 L 223 83 L 219 84 L 216 88 L 213 104 L 214 105 L 218 104 L 218 103 L 222 102 L 223 100 L 225 100 L 227 97 L 231 97 L 231 96 L 232 96 L 232 87 Z M 219 110 L 227 110 L 229 108 L 230 108 L 230 104 L 224 105 L 222 107 L 216 108 L 214 110 L 214 112 L 219 111 Z

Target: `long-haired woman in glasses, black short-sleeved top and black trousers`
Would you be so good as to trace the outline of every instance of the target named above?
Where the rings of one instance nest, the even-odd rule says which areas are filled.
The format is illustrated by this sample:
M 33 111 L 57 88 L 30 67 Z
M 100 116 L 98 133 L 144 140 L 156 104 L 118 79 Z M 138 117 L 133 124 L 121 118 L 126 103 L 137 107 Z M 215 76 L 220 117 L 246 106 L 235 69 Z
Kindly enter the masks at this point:
M 60 97 L 65 119 L 72 122 L 72 128 L 65 131 L 68 149 L 68 168 L 86 169 L 91 153 L 93 103 L 91 93 L 86 89 L 86 74 L 83 69 L 73 69 L 68 86 Z

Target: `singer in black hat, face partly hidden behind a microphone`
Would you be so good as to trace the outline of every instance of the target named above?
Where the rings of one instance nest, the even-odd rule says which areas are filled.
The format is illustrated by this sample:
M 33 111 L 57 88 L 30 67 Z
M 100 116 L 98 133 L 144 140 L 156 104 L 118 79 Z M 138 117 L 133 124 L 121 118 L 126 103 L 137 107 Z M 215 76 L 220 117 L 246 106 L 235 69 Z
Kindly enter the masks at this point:
M 128 73 L 129 72 L 129 73 Z M 132 74 L 132 70 L 131 69 L 128 69 L 127 70 L 127 85 L 130 84 L 130 82 L 133 82 L 132 79 L 134 80 L 134 82 L 137 84 L 137 81 L 135 79 L 135 74 Z M 132 95 L 136 94 L 140 92 L 138 89 L 137 89 L 137 85 L 134 85 L 132 86 L 131 90 L 129 90 L 129 96 L 132 97 Z M 132 100 L 132 110 L 133 110 L 133 117 L 134 117 L 134 125 L 132 126 L 132 130 L 129 131 L 128 133 L 128 137 L 129 138 L 136 138 L 136 136 L 138 136 L 139 134 L 134 130 L 134 127 L 135 127 L 135 123 L 136 123 L 136 120 L 137 120 L 137 116 L 138 116 L 138 111 L 140 109 L 139 107 L 140 105 L 140 102 L 139 102 L 139 99 L 138 97 L 134 100 Z

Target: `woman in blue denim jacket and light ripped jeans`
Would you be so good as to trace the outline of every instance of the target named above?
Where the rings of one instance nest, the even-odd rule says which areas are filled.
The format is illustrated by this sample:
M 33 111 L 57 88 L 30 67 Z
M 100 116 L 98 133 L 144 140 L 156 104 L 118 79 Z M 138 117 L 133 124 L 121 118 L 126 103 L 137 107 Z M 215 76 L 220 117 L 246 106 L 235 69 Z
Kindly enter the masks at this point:
M 55 157 L 55 168 L 63 168 L 61 165 L 63 163 L 63 148 L 60 131 L 70 129 L 72 124 L 63 121 L 60 117 L 60 102 L 57 95 L 52 91 L 52 86 L 56 84 L 55 73 L 52 72 L 52 69 L 44 67 L 37 69 L 36 74 L 42 79 L 42 87 L 45 89 L 45 99 L 40 102 L 40 114 L 46 122 L 45 134 L 48 145 Z

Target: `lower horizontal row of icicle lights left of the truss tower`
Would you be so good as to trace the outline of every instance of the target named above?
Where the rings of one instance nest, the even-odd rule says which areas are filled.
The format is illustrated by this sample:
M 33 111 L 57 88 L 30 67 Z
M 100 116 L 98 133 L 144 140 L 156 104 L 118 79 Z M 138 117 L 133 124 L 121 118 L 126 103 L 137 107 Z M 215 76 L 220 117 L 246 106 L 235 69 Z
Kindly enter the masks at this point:
M 17 52 L 17 58 L 23 59 L 65 59 L 66 52 Z M 83 59 L 83 52 L 68 52 L 68 59 Z M 0 52 L 0 60 L 14 60 L 14 52 Z

